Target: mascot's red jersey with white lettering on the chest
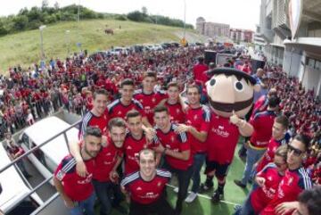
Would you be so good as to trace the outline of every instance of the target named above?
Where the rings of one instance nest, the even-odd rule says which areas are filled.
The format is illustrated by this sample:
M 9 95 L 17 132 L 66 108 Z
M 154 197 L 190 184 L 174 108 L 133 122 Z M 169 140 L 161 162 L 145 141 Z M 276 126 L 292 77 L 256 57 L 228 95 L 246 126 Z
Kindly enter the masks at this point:
M 229 121 L 229 118 L 220 117 L 212 112 L 206 141 L 207 160 L 217 161 L 220 164 L 231 163 L 239 136 L 239 129 Z

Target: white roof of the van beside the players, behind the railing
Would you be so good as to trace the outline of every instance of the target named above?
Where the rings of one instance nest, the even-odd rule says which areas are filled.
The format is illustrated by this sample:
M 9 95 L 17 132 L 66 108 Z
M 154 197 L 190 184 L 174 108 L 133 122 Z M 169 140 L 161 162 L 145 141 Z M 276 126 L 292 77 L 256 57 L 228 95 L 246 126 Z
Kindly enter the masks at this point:
M 37 121 L 34 125 L 26 128 L 23 133 L 28 135 L 35 145 L 40 145 L 69 127 L 70 124 L 57 117 L 48 117 L 44 120 Z M 78 128 L 70 128 L 66 134 L 69 142 L 78 141 Z M 41 150 L 57 165 L 62 161 L 62 158 L 69 153 L 63 134 L 42 146 Z

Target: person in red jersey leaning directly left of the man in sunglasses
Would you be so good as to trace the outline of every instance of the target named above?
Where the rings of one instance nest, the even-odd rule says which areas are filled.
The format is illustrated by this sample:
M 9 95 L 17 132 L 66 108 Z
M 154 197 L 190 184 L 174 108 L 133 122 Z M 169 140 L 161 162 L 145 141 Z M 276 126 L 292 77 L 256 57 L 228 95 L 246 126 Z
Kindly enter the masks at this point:
M 274 161 L 268 163 L 255 177 L 259 186 L 253 188 L 242 207 L 236 207 L 235 215 L 259 214 L 268 205 L 287 169 L 286 156 L 286 145 L 276 149 Z

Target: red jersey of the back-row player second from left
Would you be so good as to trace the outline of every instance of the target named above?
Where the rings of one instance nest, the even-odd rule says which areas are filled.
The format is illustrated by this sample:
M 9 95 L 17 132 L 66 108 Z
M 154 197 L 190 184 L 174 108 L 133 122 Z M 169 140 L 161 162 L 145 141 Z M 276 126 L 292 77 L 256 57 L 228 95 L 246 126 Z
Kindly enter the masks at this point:
M 126 114 L 133 109 L 140 112 L 142 114 L 142 117 L 146 115 L 144 112 L 143 104 L 138 102 L 134 98 L 132 99 L 132 102 L 129 103 L 127 106 L 122 104 L 120 102 L 120 99 L 116 99 L 114 102 L 110 103 L 107 106 L 107 109 L 108 109 L 108 114 L 110 116 L 110 119 L 115 117 L 120 117 L 122 119 L 125 119 Z

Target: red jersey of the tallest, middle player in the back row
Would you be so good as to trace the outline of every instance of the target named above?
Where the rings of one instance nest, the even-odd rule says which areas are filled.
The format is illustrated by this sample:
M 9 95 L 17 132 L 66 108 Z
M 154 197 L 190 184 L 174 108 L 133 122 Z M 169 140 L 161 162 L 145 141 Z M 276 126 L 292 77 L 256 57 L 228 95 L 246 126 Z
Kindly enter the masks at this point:
M 166 99 L 168 96 L 165 92 L 158 91 L 152 94 L 144 94 L 143 90 L 137 90 L 134 98 L 143 104 L 144 112 L 147 116 L 148 121 L 153 125 L 153 109 L 161 102 L 161 100 Z

